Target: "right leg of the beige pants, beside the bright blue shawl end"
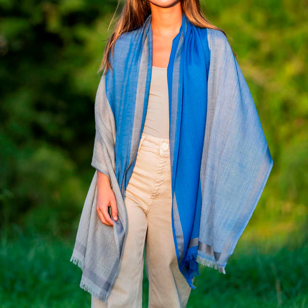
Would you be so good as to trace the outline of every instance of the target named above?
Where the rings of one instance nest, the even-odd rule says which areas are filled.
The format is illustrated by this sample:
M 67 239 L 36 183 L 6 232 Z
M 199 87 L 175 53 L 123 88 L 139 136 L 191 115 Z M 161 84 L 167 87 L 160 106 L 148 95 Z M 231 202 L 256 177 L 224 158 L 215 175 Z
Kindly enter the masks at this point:
M 164 151 L 163 151 L 164 152 Z M 170 156 L 161 155 L 147 219 L 149 308 L 186 307 L 191 287 L 179 270 L 171 221 Z

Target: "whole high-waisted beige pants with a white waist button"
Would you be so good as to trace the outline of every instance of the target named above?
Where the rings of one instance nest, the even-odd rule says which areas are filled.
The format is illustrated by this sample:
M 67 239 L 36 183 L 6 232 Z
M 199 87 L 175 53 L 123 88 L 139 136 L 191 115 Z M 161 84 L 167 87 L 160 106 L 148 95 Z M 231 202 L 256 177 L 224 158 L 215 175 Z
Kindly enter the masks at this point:
M 142 133 L 125 194 L 128 233 L 119 272 L 107 299 L 92 308 L 142 308 L 143 251 L 149 308 L 185 308 L 191 287 L 179 271 L 171 225 L 169 140 Z

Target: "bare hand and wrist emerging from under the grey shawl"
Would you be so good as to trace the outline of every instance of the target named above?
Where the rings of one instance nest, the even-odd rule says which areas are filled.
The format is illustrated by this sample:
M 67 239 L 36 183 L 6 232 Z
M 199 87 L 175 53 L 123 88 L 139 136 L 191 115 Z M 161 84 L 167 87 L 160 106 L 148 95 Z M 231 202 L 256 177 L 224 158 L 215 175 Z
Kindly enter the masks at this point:
M 111 188 L 109 177 L 97 170 L 97 215 L 103 224 L 113 226 L 113 220 L 110 218 L 108 213 L 109 206 L 111 207 L 113 219 L 117 220 L 117 201 Z

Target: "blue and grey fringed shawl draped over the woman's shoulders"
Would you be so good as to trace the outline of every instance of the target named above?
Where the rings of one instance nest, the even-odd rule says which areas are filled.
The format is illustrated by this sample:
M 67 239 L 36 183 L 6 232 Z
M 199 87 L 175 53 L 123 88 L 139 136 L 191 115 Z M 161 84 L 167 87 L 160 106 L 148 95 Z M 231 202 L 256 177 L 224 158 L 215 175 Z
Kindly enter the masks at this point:
M 95 99 L 91 165 L 109 177 L 118 219 L 96 212 L 97 172 L 80 217 L 71 260 L 80 287 L 107 303 L 127 234 L 125 189 L 145 122 L 152 72 L 152 26 L 121 34 Z M 183 14 L 167 68 L 172 231 L 179 270 L 191 288 L 199 263 L 225 266 L 273 166 L 261 122 L 226 36 Z M 112 218 L 113 219 L 113 218 Z

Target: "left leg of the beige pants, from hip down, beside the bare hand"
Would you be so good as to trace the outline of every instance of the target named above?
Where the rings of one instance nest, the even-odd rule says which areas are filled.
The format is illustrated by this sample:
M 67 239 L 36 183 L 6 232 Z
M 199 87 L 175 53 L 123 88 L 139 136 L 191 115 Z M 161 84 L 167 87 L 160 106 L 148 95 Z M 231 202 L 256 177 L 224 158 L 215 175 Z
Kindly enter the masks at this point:
M 136 163 L 125 191 L 128 233 L 118 275 L 107 298 L 107 306 L 92 296 L 91 308 L 142 308 L 143 250 L 147 232 L 146 209 L 157 168 L 155 152 L 138 147 Z M 145 164 L 146 162 L 146 164 Z

